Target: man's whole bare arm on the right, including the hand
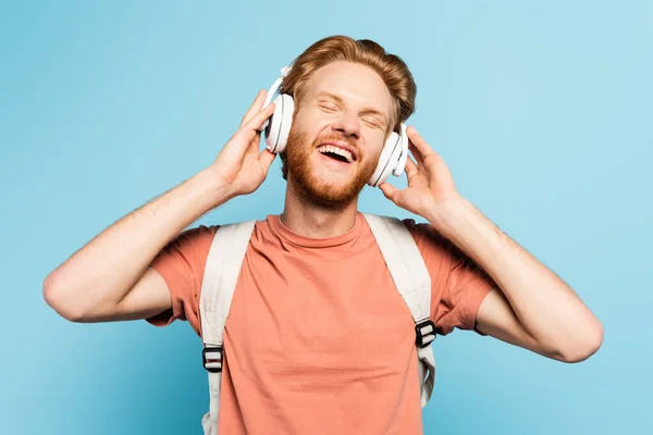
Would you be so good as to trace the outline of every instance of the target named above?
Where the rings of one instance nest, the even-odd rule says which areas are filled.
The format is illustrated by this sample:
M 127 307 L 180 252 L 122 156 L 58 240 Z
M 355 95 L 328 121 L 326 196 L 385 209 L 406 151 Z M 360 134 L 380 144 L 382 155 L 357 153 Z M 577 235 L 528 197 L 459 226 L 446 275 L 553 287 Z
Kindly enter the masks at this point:
M 456 191 L 444 161 L 414 127 L 407 134 L 416 159 L 406 162 L 408 187 L 381 189 L 427 219 L 496 283 L 479 308 L 477 330 L 559 361 L 592 356 L 603 341 L 599 320 L 569 286 Z

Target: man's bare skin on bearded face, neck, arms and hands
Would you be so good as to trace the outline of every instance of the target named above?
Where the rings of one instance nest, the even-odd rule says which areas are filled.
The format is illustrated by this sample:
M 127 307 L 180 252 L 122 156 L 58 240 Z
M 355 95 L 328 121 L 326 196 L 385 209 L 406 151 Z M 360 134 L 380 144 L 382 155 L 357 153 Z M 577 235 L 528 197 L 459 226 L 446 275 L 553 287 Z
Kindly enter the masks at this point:
M 73 322 L 144 319 L 170 309 L 168 287 L 149 264 L 202 214 L 266 179 L 274 156 L 259 151 L 259 128 L 274 104 L 262 108 L 264 98 L 262 90 L 208 167 L 122 217 L 52 271 L 44 283 L 47 303 Z M 311 76 L 286 149 L 281 217 L 291 231 L 323 238 L 353 227 L 358 194 L 390 133 L 391 111 L 387 88 L 367 66 L 336 62 Z M 445 162 L 414 126 L 407 134 L 408 186 L 383 184 L 381 190 L 430 222 L 497 284 L 479 309 L 477 328 L 558 361 L 578 362 L 596 352 L 603 327 L 588 307 L 456 190 Z M 317 147 L 329 139 L 346 141 L 358 159 L 342 164 L 322 156 Z

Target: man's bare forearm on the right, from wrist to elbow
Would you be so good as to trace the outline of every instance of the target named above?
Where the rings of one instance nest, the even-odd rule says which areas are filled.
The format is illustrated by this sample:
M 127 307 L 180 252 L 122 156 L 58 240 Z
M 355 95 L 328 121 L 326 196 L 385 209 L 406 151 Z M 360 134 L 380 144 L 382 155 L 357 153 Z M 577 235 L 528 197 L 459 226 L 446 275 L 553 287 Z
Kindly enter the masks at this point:
M 543 348 L 570 355 L 601 331 L 574 290 L 469 201 L 451 201 L 429 219 L 488 272 L 526 332 Z

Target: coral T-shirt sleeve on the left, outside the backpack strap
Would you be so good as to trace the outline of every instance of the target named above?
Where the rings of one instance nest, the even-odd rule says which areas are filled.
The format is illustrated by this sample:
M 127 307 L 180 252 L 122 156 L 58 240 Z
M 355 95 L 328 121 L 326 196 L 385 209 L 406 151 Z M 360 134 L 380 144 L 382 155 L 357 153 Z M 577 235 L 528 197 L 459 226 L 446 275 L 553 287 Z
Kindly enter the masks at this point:
M 175 320 L 188 321 L 201 335 L 199 320 L 199 294 L 204 268 L 218 226 L 200 225 L 186 229 L 171 240 L 152 260 L 151 266 L 161 275 L 172 307 L 160 314 L 146 319 L 155 326 L 167 326 Z

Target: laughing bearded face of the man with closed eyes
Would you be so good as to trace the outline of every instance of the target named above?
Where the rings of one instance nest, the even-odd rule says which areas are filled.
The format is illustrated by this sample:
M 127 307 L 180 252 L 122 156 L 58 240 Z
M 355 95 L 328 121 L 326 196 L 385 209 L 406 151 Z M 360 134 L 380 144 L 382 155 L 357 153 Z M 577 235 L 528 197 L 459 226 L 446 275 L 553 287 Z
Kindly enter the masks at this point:
M 316 71 L 288 136 L 288 183 L 322 206 L 355 200 L 377 167 L 392 103 L 368 66 L 333 62 Z

